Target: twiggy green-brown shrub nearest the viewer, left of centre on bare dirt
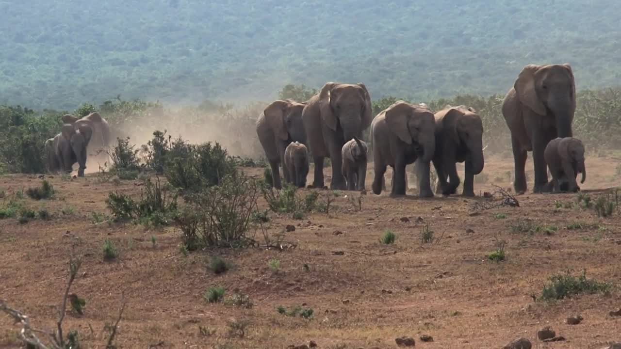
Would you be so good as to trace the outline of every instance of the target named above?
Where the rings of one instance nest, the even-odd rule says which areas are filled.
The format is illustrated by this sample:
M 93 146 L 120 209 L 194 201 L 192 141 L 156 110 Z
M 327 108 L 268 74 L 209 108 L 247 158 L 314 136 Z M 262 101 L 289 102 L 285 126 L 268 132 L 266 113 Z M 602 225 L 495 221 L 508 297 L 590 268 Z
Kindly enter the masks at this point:
M 188 250 L 202 247 L 242 248 L 255 245 L 248 235 L 259 189 L 242 173 L 222 179 L 219 186 L 186 196 L 188 204 L 175 216 Z

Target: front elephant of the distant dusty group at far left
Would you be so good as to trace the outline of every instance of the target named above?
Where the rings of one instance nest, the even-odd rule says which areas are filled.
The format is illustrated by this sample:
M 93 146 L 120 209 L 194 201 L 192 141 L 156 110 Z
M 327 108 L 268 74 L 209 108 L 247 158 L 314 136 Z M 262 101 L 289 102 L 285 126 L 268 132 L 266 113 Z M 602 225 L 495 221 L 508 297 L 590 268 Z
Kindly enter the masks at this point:
M 83 177 L 86 169 L 86 148 L 92 135 L 93 129 L 89 126 L 83 125 L 76 129 L 74 125 L 63 125 L 62 132 L 53 138 L 54 156 L 48 158 L 48 168 L 71 173 L 73 164 L 78 163 L 78 176 Z M 46 147 L 47 144 L 46 142 Z

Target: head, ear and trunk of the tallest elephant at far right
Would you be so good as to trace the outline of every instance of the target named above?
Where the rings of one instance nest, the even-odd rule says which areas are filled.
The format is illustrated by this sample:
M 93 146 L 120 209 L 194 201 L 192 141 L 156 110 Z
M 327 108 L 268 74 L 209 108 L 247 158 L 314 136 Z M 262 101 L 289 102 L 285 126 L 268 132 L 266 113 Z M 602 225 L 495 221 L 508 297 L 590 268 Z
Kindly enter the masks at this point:
M 514 84 L 522 104 L 541 116 L 555 118 L 558 137 L 571 137 L 576 111 L 576 84 L 571 66 L 527 65 Z

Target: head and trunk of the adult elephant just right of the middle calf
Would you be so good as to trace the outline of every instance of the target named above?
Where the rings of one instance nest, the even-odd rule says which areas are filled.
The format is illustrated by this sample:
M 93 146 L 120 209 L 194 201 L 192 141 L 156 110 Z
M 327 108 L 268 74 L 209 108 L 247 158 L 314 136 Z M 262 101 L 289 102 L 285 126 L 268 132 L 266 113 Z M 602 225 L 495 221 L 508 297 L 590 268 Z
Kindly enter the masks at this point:
M 435 151 L 435 118 L 429 109 L 397 101 L 386 109 L 386 125 L 402 142 L 422 148 L 422 154 L 419 154 L 422 161 L 432 160 Z

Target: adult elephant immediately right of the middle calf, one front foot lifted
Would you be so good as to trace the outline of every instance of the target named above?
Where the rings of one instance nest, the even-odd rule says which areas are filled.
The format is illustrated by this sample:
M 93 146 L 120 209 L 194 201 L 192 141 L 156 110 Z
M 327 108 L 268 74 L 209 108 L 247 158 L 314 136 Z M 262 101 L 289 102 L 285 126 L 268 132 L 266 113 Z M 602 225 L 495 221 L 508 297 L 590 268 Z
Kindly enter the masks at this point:
M 429 109 L 397 101 L 371 123 L 373 193 L 381 194 L 386 167 L 391 166 L 393 196 L 406 194 L 406 165 L 416 162 L 420 197 L 432 197 L 429 165 L 435 149 L 435 120 Z

